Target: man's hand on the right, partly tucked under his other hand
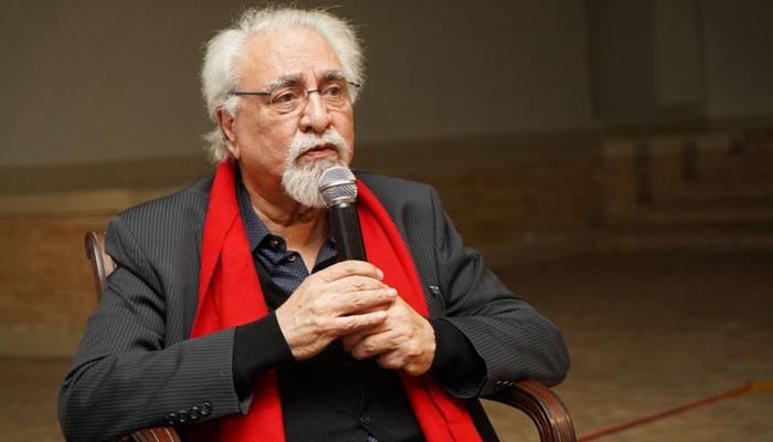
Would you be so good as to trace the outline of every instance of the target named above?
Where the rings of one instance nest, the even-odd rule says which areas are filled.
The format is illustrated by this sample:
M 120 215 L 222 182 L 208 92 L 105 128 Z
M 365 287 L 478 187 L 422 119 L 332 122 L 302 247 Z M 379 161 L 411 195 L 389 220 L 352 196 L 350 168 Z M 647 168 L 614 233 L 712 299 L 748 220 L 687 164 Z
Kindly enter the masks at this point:
M 357 359 L 379 356 L 382 368 L 425 373 L 435 357 L 435 330 L 402 298 L 386 309 L 386 320 L 343 337 L 343 348 Z

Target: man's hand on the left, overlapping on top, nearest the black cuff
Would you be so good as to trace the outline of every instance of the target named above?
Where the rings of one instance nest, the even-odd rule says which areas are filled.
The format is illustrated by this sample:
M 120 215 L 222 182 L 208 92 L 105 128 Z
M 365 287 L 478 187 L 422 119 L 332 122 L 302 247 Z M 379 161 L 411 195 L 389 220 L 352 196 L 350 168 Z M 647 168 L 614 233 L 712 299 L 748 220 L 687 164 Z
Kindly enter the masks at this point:
M 307 277 L 276 309 L 296 360 L 310 358 L 339 336 L 374 327 L 398 296 L 383 273 L 363 261 L 345 261 Z

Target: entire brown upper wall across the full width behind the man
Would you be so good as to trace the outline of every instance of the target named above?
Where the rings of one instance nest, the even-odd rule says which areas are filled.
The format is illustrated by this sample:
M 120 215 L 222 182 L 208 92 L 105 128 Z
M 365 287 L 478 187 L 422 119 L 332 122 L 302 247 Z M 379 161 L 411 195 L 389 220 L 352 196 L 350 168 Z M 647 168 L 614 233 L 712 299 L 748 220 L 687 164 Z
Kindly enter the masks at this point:
M 336 3 L 366 40 L 359 146 L 652 124 L 673 120 L 674 108 L 773 116 L 765 0 Z M 201 157 L 201 44 L 242 4 L 3 8 L 0 170 Z

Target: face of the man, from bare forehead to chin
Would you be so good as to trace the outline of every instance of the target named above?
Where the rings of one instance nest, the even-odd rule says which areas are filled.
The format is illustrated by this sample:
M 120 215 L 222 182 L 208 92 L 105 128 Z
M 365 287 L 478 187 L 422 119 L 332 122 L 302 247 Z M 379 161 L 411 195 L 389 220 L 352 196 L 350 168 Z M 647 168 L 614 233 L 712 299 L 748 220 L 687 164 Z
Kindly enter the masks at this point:
M 269 92 L 279 81 L 317 90 L 343 72 L 338 56 L 317 31 L 295 27 L 252 35 L 244 43 L 244 56 L 236 63 L 237 91 Z M 221 122 L 222 124 L 222 122 Z M 229 129 L 224 127 L 226 134 Z M 243 96 L 231 125 L 229 149 L 240 161 L 245 186 L 263 198 L 279 197 L 283 175 L 314 175 L 314 197 L 319 168 L 348 166 L 354 143 L 353 110 L 348 103 L 329 109 L 318 93 L 308 96 L 303 108 L 288 114 L 272 109 L 268 97 Z M 336 137 L 336 134 L 339 137 Z M 336 143 L 330 143 L 338 138 Z M 341 148 L 340 145 L 348 148 Z M 289 156 L 290 146 L 297 158 Z M 294 199 L 299 200 L 293 192 Z M 308 192 L 307 192 L 308 193 Z M 303 198 L 301 198 L 303 199 Z M 299 201 L 314 206 L 309 201 Z M 318 206 L 318 204 L 317 204 Z

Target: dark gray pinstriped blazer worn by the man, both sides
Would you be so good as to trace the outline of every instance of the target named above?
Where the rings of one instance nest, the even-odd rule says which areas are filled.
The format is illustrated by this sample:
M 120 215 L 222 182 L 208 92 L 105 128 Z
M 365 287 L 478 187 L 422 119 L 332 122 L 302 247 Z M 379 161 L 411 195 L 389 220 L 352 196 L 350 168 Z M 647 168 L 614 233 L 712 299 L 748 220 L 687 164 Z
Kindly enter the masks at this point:
M 430 314 L 458 327 L 486 362 L 479 385 L 446 388 L 470 398 L 523 378 L 560 382 L 569 356 L 559 330 L 463 246 L 435 190 L 358 176 L 402 233 Z M 212 177 L 110 220 L 106 246 L 117 267 L 59 397 L 67 440 L 115 440 L 202 403 L 211 413 L 199 421 L 246 412 L 252 398 L 240 402 L 232 379 L 234 329 L 189 339 L 211 186 Z

